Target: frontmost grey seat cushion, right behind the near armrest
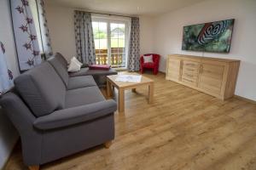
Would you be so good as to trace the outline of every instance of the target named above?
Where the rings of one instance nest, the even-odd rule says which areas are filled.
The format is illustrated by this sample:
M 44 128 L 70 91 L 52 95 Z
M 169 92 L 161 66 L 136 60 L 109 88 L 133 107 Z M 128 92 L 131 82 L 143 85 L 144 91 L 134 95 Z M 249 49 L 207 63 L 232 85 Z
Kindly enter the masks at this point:
M 103 100 L 105 99 L 96 86 L 67 90 L 65 108 L 88 105 Z

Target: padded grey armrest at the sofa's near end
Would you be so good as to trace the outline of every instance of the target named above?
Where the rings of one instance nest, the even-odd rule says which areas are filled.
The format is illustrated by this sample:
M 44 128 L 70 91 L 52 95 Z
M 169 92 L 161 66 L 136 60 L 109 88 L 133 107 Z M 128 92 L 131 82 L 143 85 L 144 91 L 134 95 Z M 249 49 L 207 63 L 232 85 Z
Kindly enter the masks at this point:
M 116 102 L 113 101 L 113 99 L 108 99 L 90 105 L 81 105 L 54 111 L 47 116 L 40 116 L 33 122 L 33 126 L 40 130 L 67 127 L 80 122 L 88 122 L 102 116 L 107 116 L 116 110 Z

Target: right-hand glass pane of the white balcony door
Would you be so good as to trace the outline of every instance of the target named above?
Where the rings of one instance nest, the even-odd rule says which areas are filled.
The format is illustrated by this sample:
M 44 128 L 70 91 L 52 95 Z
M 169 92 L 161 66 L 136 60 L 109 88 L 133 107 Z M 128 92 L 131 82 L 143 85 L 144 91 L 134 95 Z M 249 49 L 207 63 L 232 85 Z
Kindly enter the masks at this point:
M 111 65 L 125 67 L 125 24 L 110 23 Z

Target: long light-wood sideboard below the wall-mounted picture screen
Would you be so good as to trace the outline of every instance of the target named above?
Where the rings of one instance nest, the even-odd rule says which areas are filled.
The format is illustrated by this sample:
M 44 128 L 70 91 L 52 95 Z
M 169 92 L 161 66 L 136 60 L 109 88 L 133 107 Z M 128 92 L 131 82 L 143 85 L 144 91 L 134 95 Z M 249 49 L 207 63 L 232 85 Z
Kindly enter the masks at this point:
M 218 99 L 234 96 L 240 60 L 170 54 L 166 80 L 195 88 Z

